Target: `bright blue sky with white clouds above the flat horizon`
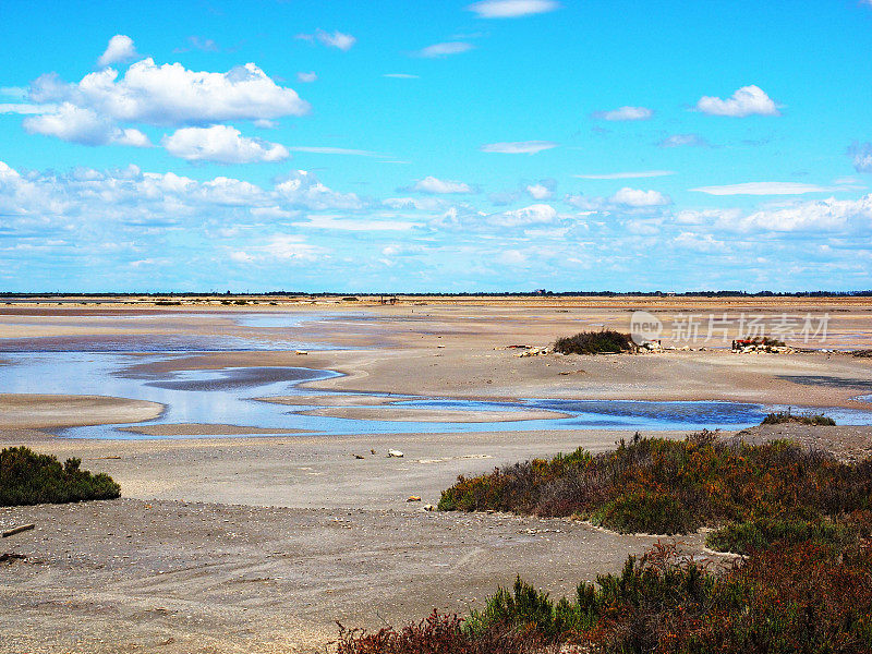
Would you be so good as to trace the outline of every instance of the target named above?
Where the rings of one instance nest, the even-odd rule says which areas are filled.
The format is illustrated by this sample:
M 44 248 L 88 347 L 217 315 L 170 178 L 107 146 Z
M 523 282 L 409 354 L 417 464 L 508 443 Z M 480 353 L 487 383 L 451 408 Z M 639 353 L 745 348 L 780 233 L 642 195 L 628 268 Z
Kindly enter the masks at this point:
M 0 1 L 0 289 L 872 288 L 872 0 Z

